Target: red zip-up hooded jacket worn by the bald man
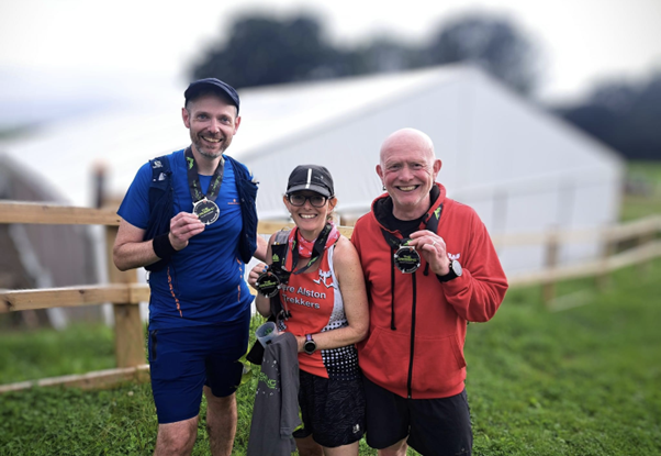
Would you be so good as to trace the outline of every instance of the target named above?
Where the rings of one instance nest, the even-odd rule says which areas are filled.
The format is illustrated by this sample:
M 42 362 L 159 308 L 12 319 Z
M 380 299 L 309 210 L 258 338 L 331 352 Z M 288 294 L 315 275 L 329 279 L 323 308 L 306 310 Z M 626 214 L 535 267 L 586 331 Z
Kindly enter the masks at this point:
M 424 258 L 414 274 L 399 269 L 392 274 L 392 251 L 380 222 L 388 194 L 374 200 L 351 236 L 370 305 L 369 335 L 358 344 L 360 367 L 371 381 L 404 398 L 446 398 L 463 390 L 467 322 L 490 320 L 507 290 L 505 273 L 478 214 L 446 198 L 445 187 L 436 185 L 440 194 L 428 214 L 442 203 L 437 233 L 463 267 L 461 277 L 440 282 Z M 392 233 L 402 237 L 399 231 Z

